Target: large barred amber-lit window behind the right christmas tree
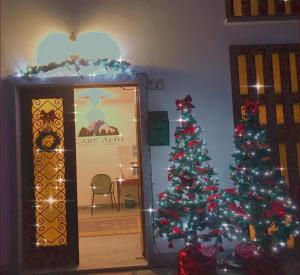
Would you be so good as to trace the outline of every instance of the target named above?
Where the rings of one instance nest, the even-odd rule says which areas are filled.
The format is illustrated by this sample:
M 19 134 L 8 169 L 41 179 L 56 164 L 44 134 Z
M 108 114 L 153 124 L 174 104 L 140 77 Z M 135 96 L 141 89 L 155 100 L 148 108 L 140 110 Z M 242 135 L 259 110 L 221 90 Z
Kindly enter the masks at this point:
M 274 160 L 284 168 L 282 175 L 296 199 L 300 183 L 300 44 L 231 46 L 230 55 L 235 123 L 242 116 L 245 99 L 260 101 L 260 124 L 267 129 Z

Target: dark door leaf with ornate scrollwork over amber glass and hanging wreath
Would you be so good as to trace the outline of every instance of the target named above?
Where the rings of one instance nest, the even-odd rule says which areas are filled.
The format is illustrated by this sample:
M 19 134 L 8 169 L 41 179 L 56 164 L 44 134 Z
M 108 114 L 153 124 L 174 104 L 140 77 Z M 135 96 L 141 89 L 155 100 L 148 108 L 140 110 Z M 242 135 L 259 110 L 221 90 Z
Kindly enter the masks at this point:
M 23 265 L 78 264 L 72 87 L 21 87 Z

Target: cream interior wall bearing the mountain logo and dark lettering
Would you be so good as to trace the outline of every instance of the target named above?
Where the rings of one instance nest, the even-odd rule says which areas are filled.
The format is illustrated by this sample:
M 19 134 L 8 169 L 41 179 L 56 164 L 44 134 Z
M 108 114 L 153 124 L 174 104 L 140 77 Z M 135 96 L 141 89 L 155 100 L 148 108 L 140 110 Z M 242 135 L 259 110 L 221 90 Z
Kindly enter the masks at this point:
M 91 180 L 96 174 L 106 174 L 112 181 L 132 176 L 130 163 L 137 161 L 135 90 L 135 87 L 74 90 L 79 206 L 91 205 Z M 97 122 L 104 123 L 100 131 L 85 136 L 84 131 L 95 131 Z M 101 129 L 108 129 L 112 135 L 98 136 Z M 122 201 L 128 192 L 123 189 Z M 95 203 L 108 204 L 110 197 L 95 196 Z

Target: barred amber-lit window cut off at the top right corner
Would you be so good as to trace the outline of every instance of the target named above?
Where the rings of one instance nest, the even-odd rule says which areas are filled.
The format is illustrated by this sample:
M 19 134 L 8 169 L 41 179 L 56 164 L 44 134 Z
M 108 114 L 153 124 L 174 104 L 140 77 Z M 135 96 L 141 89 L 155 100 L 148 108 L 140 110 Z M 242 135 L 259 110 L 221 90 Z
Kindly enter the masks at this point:
M 299 0 L 226 0 L 228 21 L 300 19 Z

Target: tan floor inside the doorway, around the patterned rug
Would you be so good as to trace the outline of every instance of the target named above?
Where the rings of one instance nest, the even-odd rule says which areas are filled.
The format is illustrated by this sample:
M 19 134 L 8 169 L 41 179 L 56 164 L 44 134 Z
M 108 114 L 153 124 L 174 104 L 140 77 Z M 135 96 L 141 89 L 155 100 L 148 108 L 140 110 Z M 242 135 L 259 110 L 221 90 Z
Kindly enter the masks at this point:
M 139 216 L 140 209 L 122 208 L 116 212 L 109 206 L 99 206 L 91 215 L 89 207 L 79 208 L 80 219 L 122 218 Z M 91 228 L 93 231 L 93 228 Z M 140 232 L 140 231 L 138 231 Z M 128 232 L 130 233 L 130 232 Z M 101 269 L 128 266 L 145 266 L 146 260 L 142 256 L 142 235 L 127 234 L 111 236 L 96 236 L 79 238 L 79 266 L 78 269 Z

